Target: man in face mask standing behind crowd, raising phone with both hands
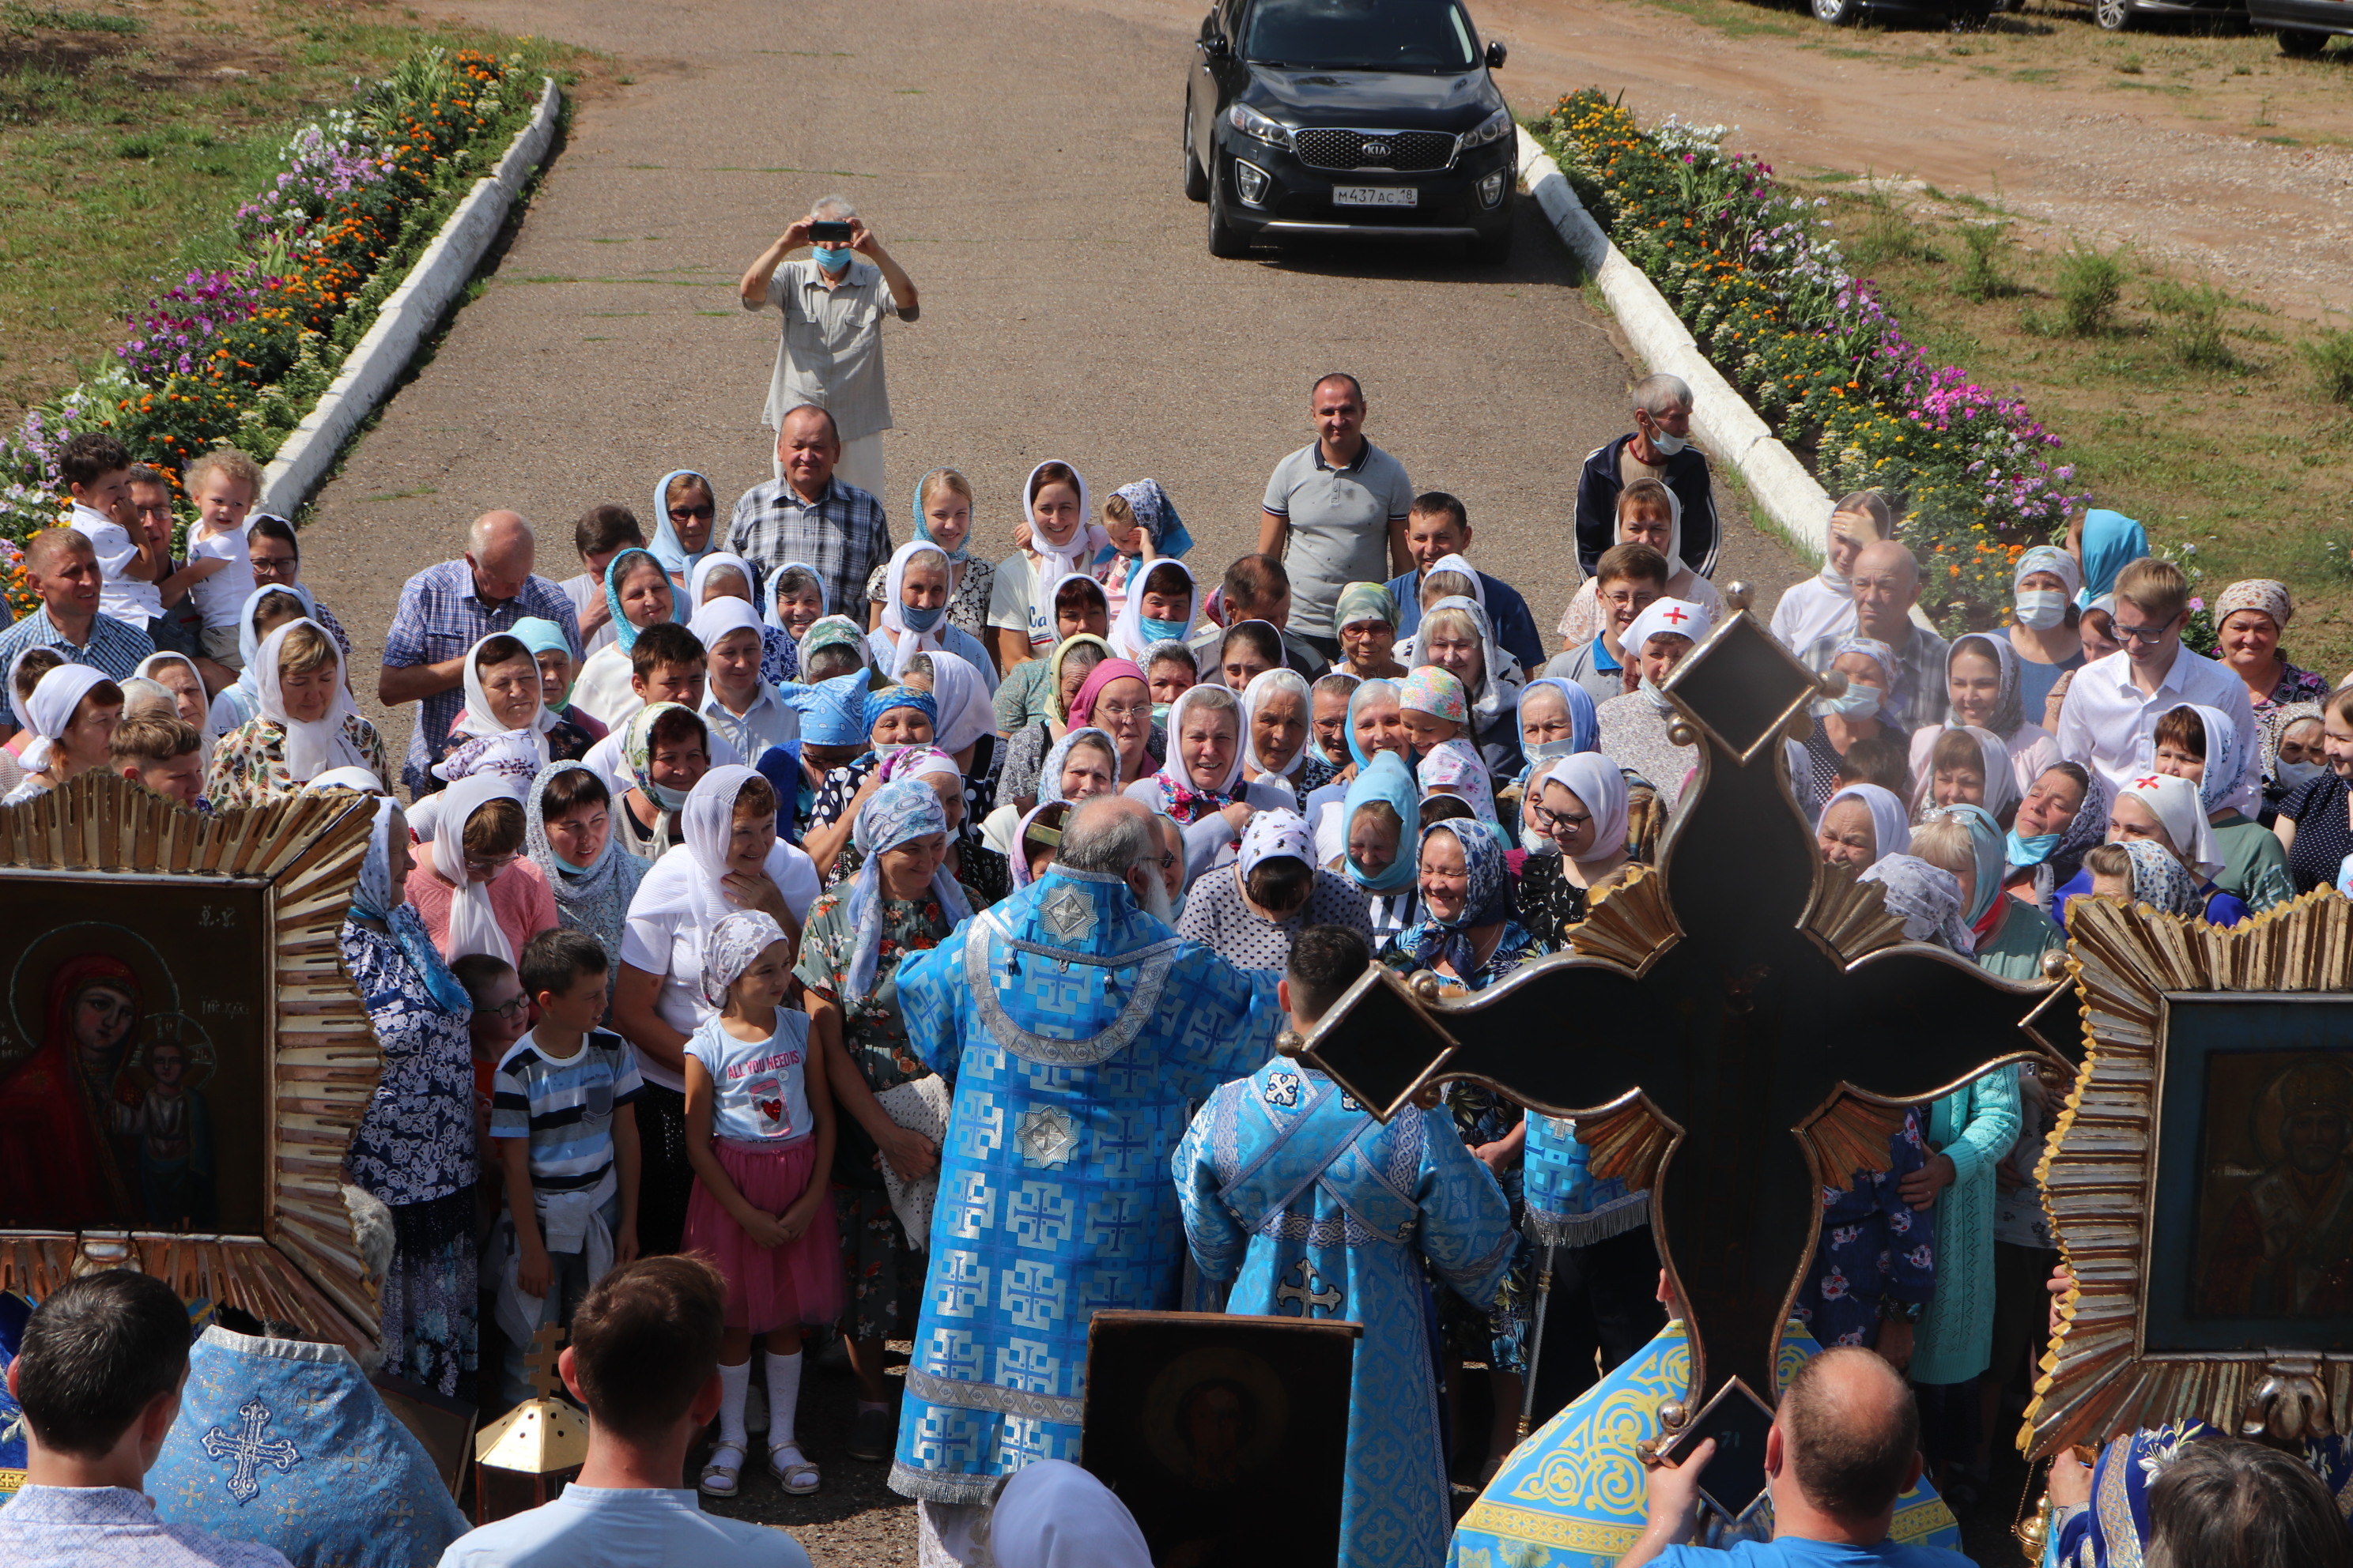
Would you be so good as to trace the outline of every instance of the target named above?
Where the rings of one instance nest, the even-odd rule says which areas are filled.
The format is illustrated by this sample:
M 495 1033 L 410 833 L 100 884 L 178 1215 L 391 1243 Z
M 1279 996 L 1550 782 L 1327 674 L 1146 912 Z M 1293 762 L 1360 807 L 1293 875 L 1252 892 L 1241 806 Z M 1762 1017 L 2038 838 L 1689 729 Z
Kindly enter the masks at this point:
M 802 244 L 805 261 L 786 261 Z M 833 470 L 845 484 L 882 498 L 882 433 L 889 386 L 882 378 L 882 317 L 913 322 L 915 282 L 906 275 L 849 197 L 826 195 L 795 219 L 746 268 L 736 294 L 746 310 L 781 310 L 776 371 L 767 383 L 769 430 L 805 402 L 833 414 L 842 454 Z M 784 477 L 784 458 L 776 458 Z

